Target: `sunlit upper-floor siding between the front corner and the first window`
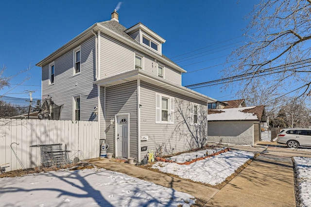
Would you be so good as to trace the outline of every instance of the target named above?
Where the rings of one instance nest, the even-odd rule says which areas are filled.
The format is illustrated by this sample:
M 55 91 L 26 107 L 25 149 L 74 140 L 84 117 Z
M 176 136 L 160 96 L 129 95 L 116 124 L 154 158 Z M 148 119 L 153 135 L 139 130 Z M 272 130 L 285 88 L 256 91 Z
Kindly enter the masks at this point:
M 101 35 L 100 79 L 135 68 L 135 53 L 129 48 Z

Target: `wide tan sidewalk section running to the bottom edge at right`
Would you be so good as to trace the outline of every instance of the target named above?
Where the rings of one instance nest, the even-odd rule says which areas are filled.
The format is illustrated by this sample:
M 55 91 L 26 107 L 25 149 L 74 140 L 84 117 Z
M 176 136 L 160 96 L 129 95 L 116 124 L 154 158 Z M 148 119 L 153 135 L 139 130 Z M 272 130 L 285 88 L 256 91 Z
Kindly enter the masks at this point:
M 259 156 L 205 205 L 250 206 L 295 207 L 292 159 Z

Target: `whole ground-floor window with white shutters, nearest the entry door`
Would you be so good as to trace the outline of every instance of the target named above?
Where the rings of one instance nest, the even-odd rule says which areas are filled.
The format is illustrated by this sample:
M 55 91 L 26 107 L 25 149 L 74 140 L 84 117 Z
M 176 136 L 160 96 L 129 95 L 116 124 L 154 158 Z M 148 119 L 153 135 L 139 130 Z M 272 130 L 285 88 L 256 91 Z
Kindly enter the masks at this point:
M 174 123 L 174 98 L 155 94 L 155 123 Z

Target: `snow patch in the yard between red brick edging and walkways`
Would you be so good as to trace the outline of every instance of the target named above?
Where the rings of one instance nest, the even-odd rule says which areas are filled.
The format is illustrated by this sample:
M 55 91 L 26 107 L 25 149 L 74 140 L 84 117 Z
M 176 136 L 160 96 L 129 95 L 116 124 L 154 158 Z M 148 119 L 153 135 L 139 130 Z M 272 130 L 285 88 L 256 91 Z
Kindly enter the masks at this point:
M 205 153 L 206 150 L 195 152 L 195 155 Z M 183 160 L 185 154 L 173 156 L 172 159 Z M 188 156 L 188 155 L 187 155 Z M 202 156 L 198 156 L 202 157 Z M 152 168 L 158 169 L 164 173 L 178 175 L 184 179 L 190 179 L 197 182 L 217 185 L 225 181 L 248 159 L 254 157 L 254 153 L 246 151 L 229 151 L 207 159 L 198 160 L 190 165 L 179 165 L 174 162 L 156 162 Z M 193 158 L 193 155 L 191 157 Z

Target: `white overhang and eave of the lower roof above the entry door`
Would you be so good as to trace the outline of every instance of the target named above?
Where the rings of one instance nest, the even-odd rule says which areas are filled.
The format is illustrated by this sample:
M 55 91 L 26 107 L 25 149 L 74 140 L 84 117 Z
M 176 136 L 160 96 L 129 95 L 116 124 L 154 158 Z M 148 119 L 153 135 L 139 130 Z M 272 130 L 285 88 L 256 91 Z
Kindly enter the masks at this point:
M 96 80 L 94 81 L 94 84 L 97 84 L 98 86 L 103 86 L 103 87 L 109 87 L 109 86 L 113 86 L 113 85 L 118 85 L 121 83 L 125 83 L 125 82 L 130 82 L 130 81 L 134 81 L 134 80 L 142 80 L 148 83 L 151 83 L 153 85 L 156 85 L 158 87 L 161 88 L 165 88 L 168 89 L 170 91 L 182 94 L 184 96 L 188 96 L 194 99 L 198 99 L 201 101 L 205 101 L 207 103 L 212 103 L 212 102 L 216 102 L 217 100 L 214 98 L 211 98 L 209 96 L 205 96 L 203 94 L 200 94 L 196 91 L 193 91 L 189 88 L 186 88 L 184 86 L 180 86 L 180 85 L 176 85 L 173 83 L 170 83 L 166 80 L 163 80 L 161 78 L 157 78 L 154 75 L 148 74 L 142 70 L 130 70 L 130 71 L 126 71 L 105 79 L 101 79 L 101 80 Z

